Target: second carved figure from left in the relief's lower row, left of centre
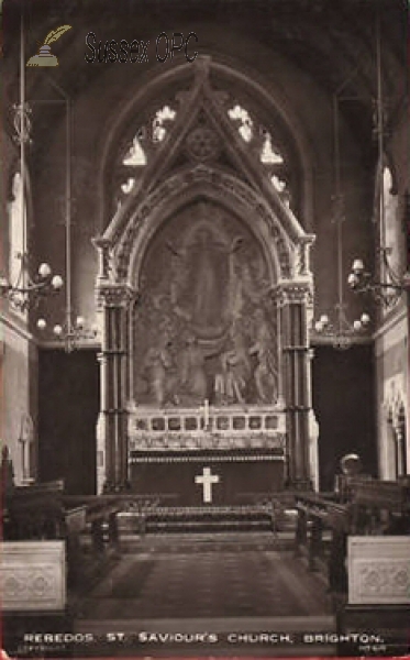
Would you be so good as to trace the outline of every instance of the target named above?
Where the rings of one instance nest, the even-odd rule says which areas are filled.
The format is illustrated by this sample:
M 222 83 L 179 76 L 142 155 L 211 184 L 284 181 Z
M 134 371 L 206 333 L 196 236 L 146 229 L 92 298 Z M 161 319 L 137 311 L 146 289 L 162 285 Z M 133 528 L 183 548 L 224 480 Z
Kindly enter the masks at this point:
M 203 402 L 207 398 L 204 356 L 195 336 L 186 339 L 186 346 L 181 354 L 179 385 L 181 393 L 197 402 Z

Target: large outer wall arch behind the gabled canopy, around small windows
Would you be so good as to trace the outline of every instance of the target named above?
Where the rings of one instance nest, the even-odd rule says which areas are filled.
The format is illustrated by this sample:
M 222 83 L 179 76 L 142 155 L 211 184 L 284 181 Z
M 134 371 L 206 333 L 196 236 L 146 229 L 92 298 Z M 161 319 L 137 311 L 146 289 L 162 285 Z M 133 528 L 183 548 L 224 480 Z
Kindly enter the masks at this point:
M 298 215 L 302 219 L 301 224 L 306 228 L 313 226 L 311 200 L 315 156 L 299 118 L 287 107 L 282 91 L 269 89 L 266 81 L 261 80 L 255 72 L 242 72 L 240 68 L 233 68 L 232 63 L 228 64 L 223 59 L 220 61 L 218 56 L 199 56 L 193 64 L 178 64 L 178 66 L 165 73 L 156 70 L 154 75 L 147 75 L 144 78 L 144 84 L 138 86 L 131 100 L 124 105 L 122 112 L 115 118 L 112 125 L 107 127 L 107 140 L 101 152 L 99 174 L 102 200 L 100 223 L 102 228 L 106 228 L 106 231 L 108 226 L 113 228 L 121 222 L 120 217 L 128 212 L 125 205 L 119 213 L 115 213 L 117 221 L 113 223 L 110 204 L 107 199 L 107 195 L 112 194 L 110 180 L 115 166 L 119 145 L 124 148 L 126 144 L 132 142 L 136 133 L 140 131 L 145 132 L 144 123 L 147 119 L 154 116 L 162 103 L 167 103 L 170 99 L 174 99 L 173 103 L 177 109 L 175 123 L 179 123 L 186 129 L 195 122 L 195 116 L 201 109 L 200 101 L 202 101 L 202 109 L 208 113 L 210 120 L 215 122 L 217 132 L 222 131 L 225 138 L 231 135 L 234 145 L 232 157 L 236 160 L 240 169 L 247 167 L 245 172 L 246 179 L 251 180 L 254 176 L 256 176 L 256 180 L 259 179 L 259 163 L 255 158 L 251 157 L 250 160 L 250 148 L 247 146 L 251 146 L 251 151 L 254 150 L 257 141 L 263 140 L 266 135 L 266 131 L 263 131 L 264 135 L 257 135 L 251 145 L 241 144 L 243 141 L 237 140 L 237 131 L 233 128 L 232 121 L 225 112 L 224 102 L 229 96 L 228 89 L 231 90 L 230 94 L 233 95 L 233 98 L 236 98 L 235 94 L 240 95 L 239 98 L 244 94 L 245 99 L 252 99 L 256 113 L 257 108 L 264 108 L 261 116 L 262 125 L 268 132 L 279 131 L 280 141 L 287 145 L 286 150 L 290 150 L 291 153 L 291 169 L 298 172 L 299 201 L 297 208 Z M 173 131 L 173 133 L 176 134 L 178 131 Z M 145 190 L 147 183 L 154 185 L 156 180 L 159 180 L 162 173 L 167 168 L 169 169 L 171 156 L 169 157 L 167 154 L 173 152 L 173 148 L 169 150 L 173 145 L 169 144 L 168 140 L 166 144 L 166 148 L 164 148 L 165 143 L 160 143 L 159 148 L 154 148 L 155 154 L 160 153 L 160 157 L 155 157 L 155 166 L 148 164 L 145 168 L 141 180 L 141 187 Z M 151 145 L 149 152 L 152 151 Z M 134 196 L 137 193 L 135 187 L 132 193 Z M 129 196 L 128 204 L 130 204 L 130 198 L 133 195 Z

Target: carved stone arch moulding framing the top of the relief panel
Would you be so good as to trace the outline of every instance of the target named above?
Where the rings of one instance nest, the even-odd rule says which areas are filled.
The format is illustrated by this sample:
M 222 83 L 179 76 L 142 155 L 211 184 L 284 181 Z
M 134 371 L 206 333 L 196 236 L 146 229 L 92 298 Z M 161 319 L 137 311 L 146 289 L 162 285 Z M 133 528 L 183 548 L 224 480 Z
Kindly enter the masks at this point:
M 280 204 L 273 209 L 234 176 L 198 165 L 169 177 L 130 213 L 124 231 L 111 244 L 111 272 L 117 282 L 133 288 L 160 224 L 178 207 L 200 198 L 232 209 L 248 226 L 262 245 L 272 286 L 281 279 L 311 280 L 309 248 L 314 238 L 304 233 L 295 216 Z

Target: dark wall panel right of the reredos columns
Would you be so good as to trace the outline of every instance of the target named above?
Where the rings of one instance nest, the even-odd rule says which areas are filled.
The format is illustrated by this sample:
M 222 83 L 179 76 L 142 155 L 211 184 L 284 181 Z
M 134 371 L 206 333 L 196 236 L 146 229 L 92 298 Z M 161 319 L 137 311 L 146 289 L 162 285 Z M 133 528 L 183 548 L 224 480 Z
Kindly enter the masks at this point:
M 377 475 L 374 369 L 372 345 L 345 351 L 314 348 L 312 396 L 320 433 L 321 491 L 333 488 L 345 453 L 357 453 L 363 472 Z

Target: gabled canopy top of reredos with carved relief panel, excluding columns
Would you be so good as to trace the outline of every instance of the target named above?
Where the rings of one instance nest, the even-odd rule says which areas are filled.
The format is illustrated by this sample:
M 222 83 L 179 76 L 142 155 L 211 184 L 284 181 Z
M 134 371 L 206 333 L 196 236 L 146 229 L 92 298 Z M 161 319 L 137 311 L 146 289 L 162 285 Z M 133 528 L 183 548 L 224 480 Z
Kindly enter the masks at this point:
M 209 64 L 199 61 L 167 139 L 96 241 L 97 293 L 135 294 L 129 398 L 273 405 L 280 290 L 293 284 L 309 297 L 313 237 L 244 147 Z

